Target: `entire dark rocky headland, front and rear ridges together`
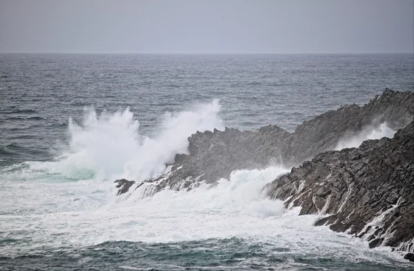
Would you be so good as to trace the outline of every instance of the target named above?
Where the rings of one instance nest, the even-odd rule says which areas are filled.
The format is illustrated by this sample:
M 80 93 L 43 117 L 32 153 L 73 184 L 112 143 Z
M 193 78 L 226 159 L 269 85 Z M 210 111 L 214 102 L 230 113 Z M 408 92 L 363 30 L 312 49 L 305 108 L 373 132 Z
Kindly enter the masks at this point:
M 299 165 L 266 185 L 268 197 L 284 200 L 287 208 L 301 206 L 300 214 L 324 214 L 315 225 L 355 234 L 371 248 L 389 245 L 413 252 L 413 116 L 414 92 L 387 88 L 364 106 L 326 112 L 304 121 L 293 133 L 277 126 L 197 132 L 188 138 L 188 153 L 177 154 L 165 174 L 139 186 L 145 183 L 141 193 L 150 197 L 164 188 L 188 191 L 201 181 L 228 179 L 233 170 L 264 168 L 272 162 Z M 368 140 L 359 148 L 333 151 L 340 139 L 384 122 L 393 130 L 405 128 L 393 139 Z M 118 194 L 135 183 L 115 182 Z

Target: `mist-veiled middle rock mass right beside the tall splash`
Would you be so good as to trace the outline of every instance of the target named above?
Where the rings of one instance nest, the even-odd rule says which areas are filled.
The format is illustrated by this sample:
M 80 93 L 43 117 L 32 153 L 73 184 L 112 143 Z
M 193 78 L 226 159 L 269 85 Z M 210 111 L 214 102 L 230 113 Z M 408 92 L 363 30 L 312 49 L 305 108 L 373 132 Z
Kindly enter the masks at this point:
M 272 159 L 280 161 L 280 146 L 288 136 L 277 126 L 255 132 L 233 128 L 197 132 L 188 138 L 189 154 L 177 154 L 171 172 L 152 181 L 161 178 L 161 187 L 181 190 L 193 188 L 197 181 L 213 183 L 228 178 L 233 170 L 263 168 Z

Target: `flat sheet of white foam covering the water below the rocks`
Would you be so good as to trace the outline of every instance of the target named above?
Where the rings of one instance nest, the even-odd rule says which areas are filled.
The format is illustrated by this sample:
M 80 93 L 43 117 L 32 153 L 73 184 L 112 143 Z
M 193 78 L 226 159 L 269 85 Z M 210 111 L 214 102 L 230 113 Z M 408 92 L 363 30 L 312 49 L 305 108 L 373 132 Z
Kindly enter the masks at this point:
M 30 169 L 28 169 L 30 170 Z M 399 260 L 389 250 L 370 250 L 368 244 L 347 234 L 315 227 L 315 215 L 298 216 L 282 201 L 267 199 L 263 186 L 286 169 L 238 170 L 217 185 L 201 185 L 190 192 L 163 190 L 153 197 L 124 201 L 97 180 L 39 183 L 10 182 L 6 201 L 20 213 L 1 216 L 1 228 L 14 239 L 28 239 L 23 247 L 6 245 L 1 254 L 21 254 L 44 248 L 79 247 L 105 241 L 164 243 L 202 239 L 243 238 L 261 243 L 264 250 L 286 248 L 301 257 L 338 257 L 349 261 Z M 106 185 L 106 186 L 105 186 Z M 21 187 L 24 188 L 21 188 Z M 41 196 L 41 197 L 40 197 Z M 7 211 L 12 206 L 0 203 Z

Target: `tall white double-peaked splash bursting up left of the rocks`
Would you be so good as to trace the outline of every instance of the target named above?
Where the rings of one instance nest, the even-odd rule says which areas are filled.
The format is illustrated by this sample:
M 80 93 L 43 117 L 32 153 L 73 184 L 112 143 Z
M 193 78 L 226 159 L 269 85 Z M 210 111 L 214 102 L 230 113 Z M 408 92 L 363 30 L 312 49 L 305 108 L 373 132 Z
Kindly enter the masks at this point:
M 100 115 L 88 109 L 82 123 L 69 120 L 70 142 L 58 161 L 43 168 L 37 165 L 37 170 L 79 179 L 89 179 L 90 172 L 97 179 L 148 179 L 163 172 L 175 154 L 187 152 L 190 134 L 223 128 L 219 109 L 215 100 L 192 110 L 166 113 L 152 138 L 139 134 L 139 121 L 129 108 Z

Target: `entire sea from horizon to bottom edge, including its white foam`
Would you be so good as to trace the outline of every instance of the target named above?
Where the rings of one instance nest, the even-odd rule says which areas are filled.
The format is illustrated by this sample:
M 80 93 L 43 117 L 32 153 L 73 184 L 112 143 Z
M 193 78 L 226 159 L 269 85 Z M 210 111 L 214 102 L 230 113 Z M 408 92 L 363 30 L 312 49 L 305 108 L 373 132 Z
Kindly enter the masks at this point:
M 386 87 L 414 91 L 414 54 L 0 54 L 0 270 L 413 270 L 263 197 L 277 165 L 152 198 L 113 183 L 197 130 L 293 132 Z

